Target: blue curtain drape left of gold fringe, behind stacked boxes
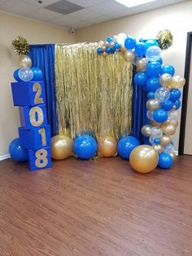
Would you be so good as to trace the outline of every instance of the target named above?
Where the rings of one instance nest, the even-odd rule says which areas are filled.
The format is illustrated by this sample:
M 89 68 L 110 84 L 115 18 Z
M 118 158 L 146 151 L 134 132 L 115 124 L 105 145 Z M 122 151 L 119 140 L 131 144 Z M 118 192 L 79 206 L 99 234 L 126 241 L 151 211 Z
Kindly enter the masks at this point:
M 55 45 L 31 45 L 29 54 L 33 67 L 41 68 L 46 87 L 46 109 L 51 135 L 58 132 L 55 95 Z

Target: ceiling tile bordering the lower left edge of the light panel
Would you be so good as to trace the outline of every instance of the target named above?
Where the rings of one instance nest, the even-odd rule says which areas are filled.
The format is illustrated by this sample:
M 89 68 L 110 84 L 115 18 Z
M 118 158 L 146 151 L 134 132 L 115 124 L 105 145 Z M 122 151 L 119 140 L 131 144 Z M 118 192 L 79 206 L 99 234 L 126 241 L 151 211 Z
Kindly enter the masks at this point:
M 112 1 L 112 0 L 108 0 L 107 2 L 103 2 L 94 7 L 89 7 L 89 10 L 96 11 L 100 14 L 108 14 L 111 12 L 120 11 L 124 9 L 127 9 L 127 7 L 124 7 L 119 2 Z

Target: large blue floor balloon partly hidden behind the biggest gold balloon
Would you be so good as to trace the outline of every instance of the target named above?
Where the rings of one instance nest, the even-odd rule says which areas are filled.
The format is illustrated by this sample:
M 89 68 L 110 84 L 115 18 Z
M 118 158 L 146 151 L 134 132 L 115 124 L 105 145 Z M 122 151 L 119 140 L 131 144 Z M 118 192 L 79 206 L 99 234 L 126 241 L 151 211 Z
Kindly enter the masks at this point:
M 126 136 L 119 140 L 117 144 L 117 152 L 119 153 L 120 157 L 129 159 L 132 150 L 139 145 L 140 143 L 138 139 L 133 136 Z

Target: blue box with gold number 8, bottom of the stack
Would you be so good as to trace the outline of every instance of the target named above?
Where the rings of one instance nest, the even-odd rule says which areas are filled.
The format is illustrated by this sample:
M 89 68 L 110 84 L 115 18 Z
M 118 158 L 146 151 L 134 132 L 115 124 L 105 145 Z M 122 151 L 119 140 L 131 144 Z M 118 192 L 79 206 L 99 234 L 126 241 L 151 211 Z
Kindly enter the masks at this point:
M 51 167 L 50 147 L 41 148 L 37 151 L 28 149 L 28 164 L 30 170 L 39 170 Z

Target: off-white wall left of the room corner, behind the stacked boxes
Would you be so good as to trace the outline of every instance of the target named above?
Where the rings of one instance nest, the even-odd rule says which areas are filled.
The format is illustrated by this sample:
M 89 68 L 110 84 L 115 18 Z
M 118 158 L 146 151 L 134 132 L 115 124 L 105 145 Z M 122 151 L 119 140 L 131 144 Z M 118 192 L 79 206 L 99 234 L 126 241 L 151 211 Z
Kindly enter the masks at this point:
M 20 119 L 18 108 L 13 107 L 11 82 L 18 65 L 18 56 L 11 49 L 11 42 L 18 35 L 31 44 L 76 42 L 75 35 L 67 29 L 0 13 L 0 159 L 7 154 L 11 139 L 18 137 Z

